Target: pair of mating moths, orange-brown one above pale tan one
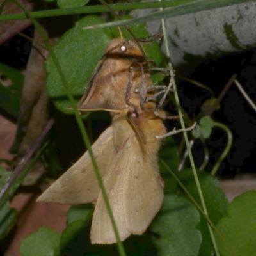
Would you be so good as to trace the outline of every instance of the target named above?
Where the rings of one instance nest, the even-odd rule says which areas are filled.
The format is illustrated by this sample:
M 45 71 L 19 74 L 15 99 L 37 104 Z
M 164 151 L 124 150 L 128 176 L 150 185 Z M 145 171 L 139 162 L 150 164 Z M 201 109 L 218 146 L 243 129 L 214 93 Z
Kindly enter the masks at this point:
M 157 109 L 147 61 L 134 40 L 113 39 L 95 68 L 80 111 L 107 110 L 111 126 L 92 145 L 121 240 L 142 234 L 163 202 L 158 152 L 166 134 Z M 147 100 L 151 99 L 151 100 Z M 116 243 L 102 193 L 86 152 L 37 200 L 58 204 L 95 203 L 92 244 Z

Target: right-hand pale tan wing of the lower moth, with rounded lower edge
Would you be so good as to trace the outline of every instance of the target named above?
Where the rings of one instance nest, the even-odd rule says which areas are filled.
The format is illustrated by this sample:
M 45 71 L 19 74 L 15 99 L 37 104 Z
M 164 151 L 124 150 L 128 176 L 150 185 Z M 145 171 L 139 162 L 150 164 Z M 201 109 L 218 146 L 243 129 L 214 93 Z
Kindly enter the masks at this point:
M 127 230 L 132 234 L 142 234 L 147 230 L 159 211 L 164 198 L 163 184 L 158 171 L 157 156 L 147 146 L 132 143 L 129 156 L 131 161 L 124 188 L 124 211 Z

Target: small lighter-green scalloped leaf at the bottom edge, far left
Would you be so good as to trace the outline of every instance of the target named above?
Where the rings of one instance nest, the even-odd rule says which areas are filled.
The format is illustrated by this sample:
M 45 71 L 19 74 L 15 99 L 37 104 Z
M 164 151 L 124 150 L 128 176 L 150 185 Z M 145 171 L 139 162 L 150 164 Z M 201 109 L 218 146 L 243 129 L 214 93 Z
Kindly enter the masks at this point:
M 61 234 L 49 227 L 40 227 L 39 230 L 20 243 L 22 256 L 56 256 L 60 255 Z

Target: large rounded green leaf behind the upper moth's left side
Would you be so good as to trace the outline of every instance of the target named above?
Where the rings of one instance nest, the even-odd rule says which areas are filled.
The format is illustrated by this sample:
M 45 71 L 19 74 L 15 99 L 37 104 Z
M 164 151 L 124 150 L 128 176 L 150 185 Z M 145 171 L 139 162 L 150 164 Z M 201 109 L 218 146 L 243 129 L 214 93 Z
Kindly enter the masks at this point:
M 100 17 L 84 17 L 76 23 L 74 28 L 67 31 L 54 47 L 54 52 L 77 103 L 111 39 L 109 29 L 84 30 L 83 27 L 102 22 L 104 20 Z M 71 113 L 72 111 L 65 109 L 70 107 L 70 102 L 52 58 L 47 60 L 46 67 L 49 73 L 46 84 L 49 96 L 58 109 Z

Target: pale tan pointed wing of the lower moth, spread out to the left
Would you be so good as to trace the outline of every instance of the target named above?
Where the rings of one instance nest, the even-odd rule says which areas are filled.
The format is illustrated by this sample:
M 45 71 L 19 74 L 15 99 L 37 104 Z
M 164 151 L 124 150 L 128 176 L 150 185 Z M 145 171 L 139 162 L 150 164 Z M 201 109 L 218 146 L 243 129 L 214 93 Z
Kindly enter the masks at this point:
M 93 154 L 102 177 L 106 175 L 116 155 L 113 129 L 109 127 L 92 145 Z M 57 204 L 86 204 L 95 202 L 100 188 L 88 151 L 37 199 Z

